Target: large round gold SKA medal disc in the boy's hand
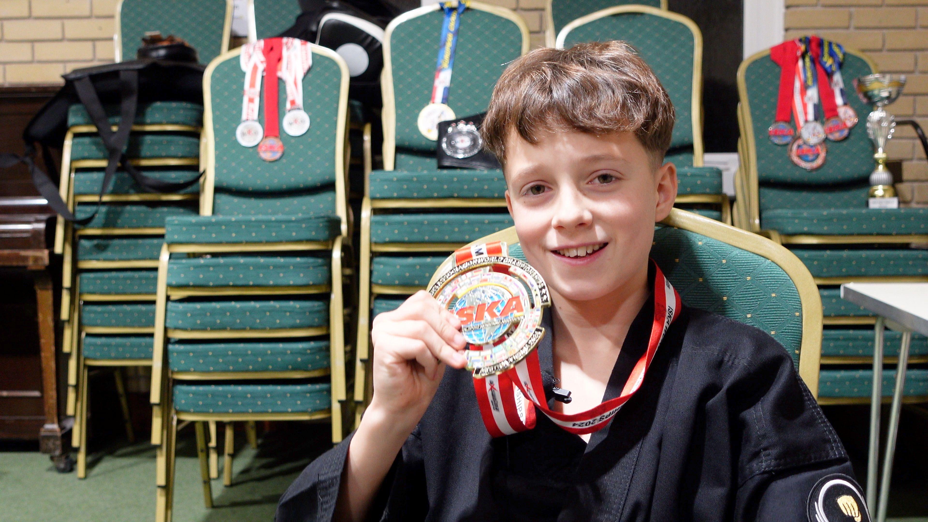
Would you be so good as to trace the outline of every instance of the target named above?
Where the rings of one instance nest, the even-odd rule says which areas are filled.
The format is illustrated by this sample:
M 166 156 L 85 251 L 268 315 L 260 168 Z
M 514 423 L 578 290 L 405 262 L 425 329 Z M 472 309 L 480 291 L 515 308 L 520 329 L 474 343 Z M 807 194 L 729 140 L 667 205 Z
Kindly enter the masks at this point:
M 474 257 L 449 269 L 429 289 L 458 316 L 470 349 L 466 368 L 474 377 L 506 372 L 535 349 L 545 329 L 548 286 L 531 265 L 508 255 Z

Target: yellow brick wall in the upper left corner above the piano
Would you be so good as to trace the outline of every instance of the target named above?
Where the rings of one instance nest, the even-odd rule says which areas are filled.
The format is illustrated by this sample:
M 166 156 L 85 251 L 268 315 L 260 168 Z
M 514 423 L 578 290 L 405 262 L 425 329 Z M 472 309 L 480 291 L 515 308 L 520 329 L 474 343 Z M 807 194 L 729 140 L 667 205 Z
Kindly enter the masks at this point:
M 113 59 L 116 0 L 0 0 L 0 85 L 61 84 Z

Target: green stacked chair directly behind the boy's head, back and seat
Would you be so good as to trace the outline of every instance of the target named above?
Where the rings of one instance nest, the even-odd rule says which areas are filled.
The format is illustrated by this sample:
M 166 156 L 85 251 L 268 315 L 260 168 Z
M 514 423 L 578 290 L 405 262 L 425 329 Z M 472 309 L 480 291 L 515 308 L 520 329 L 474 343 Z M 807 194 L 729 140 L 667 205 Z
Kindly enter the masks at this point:
M 677 111 L 666 161 L 677 165 L 677 204 L 731 223 L 722 171 L 702 164 L 702 33 L 693 20 L 645 6 L 609 7 L 568 23 L 557 46 L 624 40 L 661 80 Z

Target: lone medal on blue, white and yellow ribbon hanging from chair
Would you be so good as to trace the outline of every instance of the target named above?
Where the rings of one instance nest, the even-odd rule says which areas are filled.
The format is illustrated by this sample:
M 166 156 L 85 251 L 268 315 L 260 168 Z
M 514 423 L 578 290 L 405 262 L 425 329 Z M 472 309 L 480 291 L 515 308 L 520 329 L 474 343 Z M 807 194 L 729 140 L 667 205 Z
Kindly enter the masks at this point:
M 438 60 L 435 64 L 435 79 L 432 82 L 431 102 L 419 111 L 417 125 L 422 136 L 438 141 L 438 123 L 455 119 L 455 111 L 448 107 L 448 92 L 451 89 L 451 72 L 455 66 L 455 50 L 458 47 L 458 29 L 461 15 L 468 3 L 461 0 L 455 6 L 452 2 L 441 4 L 445 10 L 445 22 L 442 25 L 441 45 L 438 48 Z

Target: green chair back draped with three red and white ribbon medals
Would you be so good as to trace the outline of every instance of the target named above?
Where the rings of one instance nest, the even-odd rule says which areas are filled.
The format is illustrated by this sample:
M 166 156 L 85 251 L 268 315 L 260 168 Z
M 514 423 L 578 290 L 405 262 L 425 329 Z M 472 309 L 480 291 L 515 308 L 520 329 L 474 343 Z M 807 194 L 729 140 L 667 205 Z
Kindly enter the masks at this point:
M 313 66 L 303 76 L 303 109 L 311 125 L 300 137 L 281 127 L 284 154 L 265 162 L 257 148 L 238 144 L 245 72 L 240 49 L 216 59 L 204 78 L 207 180 L 204 215 L 344 214 L 344 136 L 348 68 L 334 51 L 313 45 Z M 266 82 L 262 84 L 262 89 Z M 278 113 L 286 113 L 286 91 L 278 80 Z M 264 122 L 264 96 L 258 121 Z

